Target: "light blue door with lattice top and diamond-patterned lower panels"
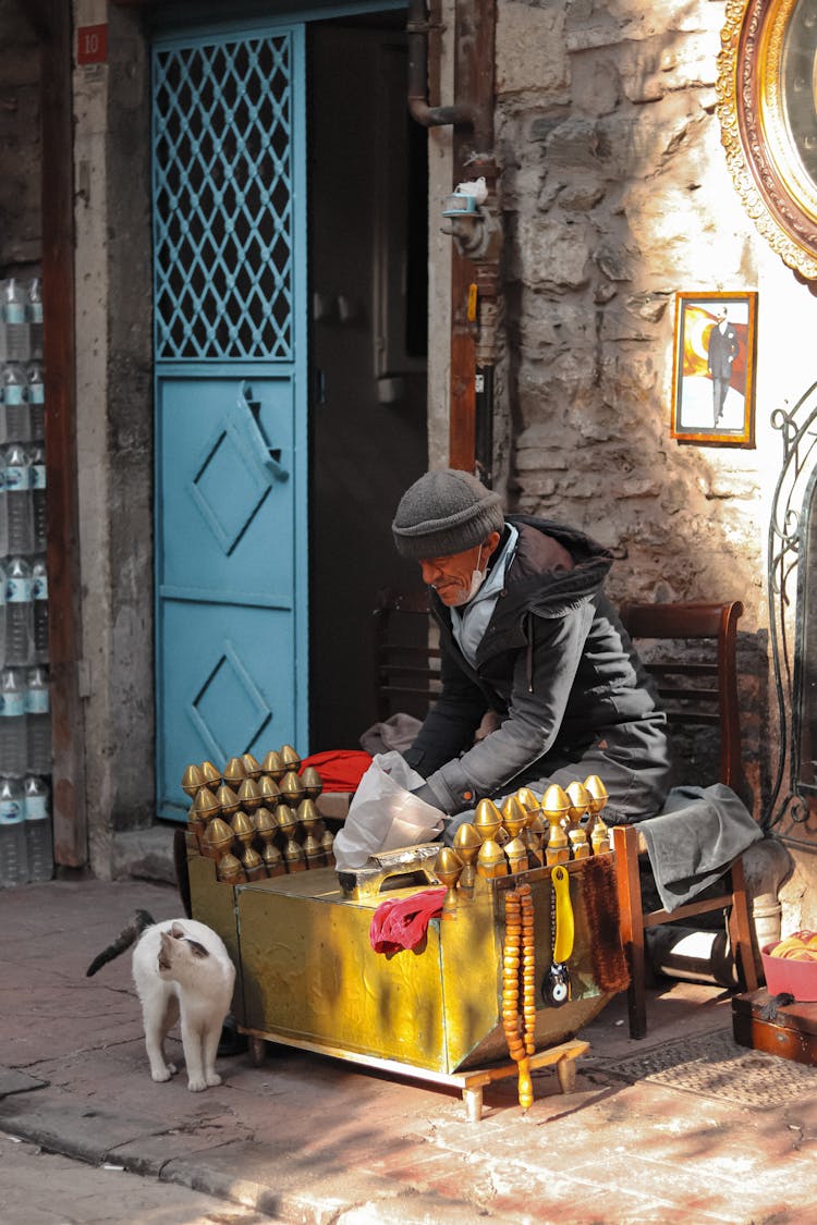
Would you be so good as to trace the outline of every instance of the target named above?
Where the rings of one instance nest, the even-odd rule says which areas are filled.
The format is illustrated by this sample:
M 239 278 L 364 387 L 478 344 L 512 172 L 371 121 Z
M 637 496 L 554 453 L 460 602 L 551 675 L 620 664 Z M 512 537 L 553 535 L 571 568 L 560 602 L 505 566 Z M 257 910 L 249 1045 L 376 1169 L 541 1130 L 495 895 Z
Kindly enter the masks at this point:
M 304 32 L 153 49 L 159 816 L 307 751 Z

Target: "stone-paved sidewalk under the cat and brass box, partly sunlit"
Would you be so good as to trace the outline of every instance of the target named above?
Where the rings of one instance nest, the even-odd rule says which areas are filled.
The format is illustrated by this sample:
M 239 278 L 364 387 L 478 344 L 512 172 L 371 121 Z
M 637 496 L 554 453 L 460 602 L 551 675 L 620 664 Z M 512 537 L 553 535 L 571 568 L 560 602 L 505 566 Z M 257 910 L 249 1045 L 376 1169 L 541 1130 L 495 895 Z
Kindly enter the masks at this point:
M 718 989 L 653 992 L 643 1042 L 619 997 L 582 1034 L 574 1093 L 543 1069 L 523 1114 L 513 1079 L 496 1082 L 479 1123 L 454 1090 L 279 1046 L 261 1067 L 219 1060 L 224 1083 L 191 1094 L 184 1072 L 149 1078 L 129 959 L 85 978 L 137 907 L 180 913 L 171 888 L 143 882 L 0 892 L 0 973 L 13 985 L 0 1000 L 0 1127 L 217 1197 L 228 1219 L 243 1205 L 310 1225 L 817 1225 L 817 1102 L 750 1110 L 615 1074 L 617 1061 L 729 1027 Z

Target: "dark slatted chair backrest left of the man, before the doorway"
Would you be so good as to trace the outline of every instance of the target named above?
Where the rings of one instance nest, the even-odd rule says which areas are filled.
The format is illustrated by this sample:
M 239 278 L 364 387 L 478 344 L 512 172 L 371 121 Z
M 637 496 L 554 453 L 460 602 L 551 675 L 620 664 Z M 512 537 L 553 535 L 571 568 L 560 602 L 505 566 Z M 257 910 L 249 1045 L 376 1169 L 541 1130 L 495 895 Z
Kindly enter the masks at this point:
M 427 594 L 382 588 L 372 614 L 377 719 L 398 710 L 423 719 L 441 688 Z

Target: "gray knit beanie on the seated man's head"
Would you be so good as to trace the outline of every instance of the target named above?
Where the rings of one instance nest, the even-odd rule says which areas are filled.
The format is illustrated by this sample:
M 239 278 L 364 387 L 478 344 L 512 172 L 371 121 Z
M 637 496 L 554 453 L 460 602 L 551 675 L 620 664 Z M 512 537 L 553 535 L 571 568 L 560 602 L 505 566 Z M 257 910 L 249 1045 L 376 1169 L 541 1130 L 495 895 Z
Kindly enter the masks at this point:
M 424 561 L 473 549 L 503 527 L 499 494 L 469 472 L 440 468 L 426 472 L 405 490 L 392 533 L 403 557 Z

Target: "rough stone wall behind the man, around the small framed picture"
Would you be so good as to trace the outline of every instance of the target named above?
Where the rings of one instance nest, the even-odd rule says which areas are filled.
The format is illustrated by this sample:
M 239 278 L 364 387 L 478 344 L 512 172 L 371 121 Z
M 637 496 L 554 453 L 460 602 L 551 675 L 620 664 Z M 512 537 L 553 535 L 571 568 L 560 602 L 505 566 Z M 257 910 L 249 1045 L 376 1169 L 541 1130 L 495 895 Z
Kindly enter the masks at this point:
M 781 450 L 769 417 L 813 379 L 780 320 L 817 320 L 731 184 L 715 115 L 723 20 L 707 0 L 499 6 L 502 446 L 512 506 L 612 550 L 614 599 L 744 600 L 759 813 L 775 715 L 764 549 Z M 675 294 L 748 289 L 759 290 L 757 448 L 679 443 Z

